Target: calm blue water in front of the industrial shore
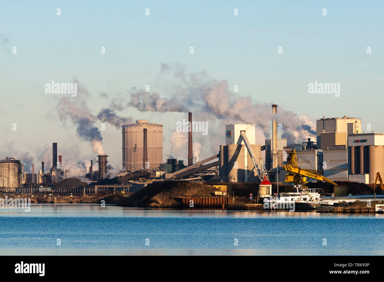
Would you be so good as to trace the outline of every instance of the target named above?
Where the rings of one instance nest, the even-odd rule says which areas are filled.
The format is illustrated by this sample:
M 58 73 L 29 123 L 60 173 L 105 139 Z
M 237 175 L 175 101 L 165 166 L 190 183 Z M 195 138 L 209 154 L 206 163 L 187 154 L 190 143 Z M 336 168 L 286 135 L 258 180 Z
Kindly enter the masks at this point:
M 36 204 L 30 212 L 0 209 L 0 254 L 384 255 L 383 219 L 382 214 Z

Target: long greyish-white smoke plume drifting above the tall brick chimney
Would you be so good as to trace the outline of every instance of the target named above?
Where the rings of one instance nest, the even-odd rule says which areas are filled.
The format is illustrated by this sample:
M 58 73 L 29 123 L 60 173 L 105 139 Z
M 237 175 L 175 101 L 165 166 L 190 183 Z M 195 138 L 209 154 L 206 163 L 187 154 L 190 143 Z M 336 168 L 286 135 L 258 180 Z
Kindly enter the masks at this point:
M 230 123 L 255 124 L 265 136 L 270 136 L 272 103 L 257 103 L 251 96 L 230 91 L 226 80 L 209 79 L 204 73 L 187 73 L 179 65 L 162 64 L 161 69 L 164 74 L 175 69 L 173 79 L 179 83 L 177 90 L 168 95 L 170 98 L 162 98 L 157 93 L 148 95 L 143 91 L 131 92 L 129 106 L 140 111 L 185 112 L 184 109 L 189 109 L 195 115 L 204 112 L 214 115 L 216 119 L 230 119 Z M 301 143 L 308 137 L 316 136 L 314 124 L 304 116 L 298 117 L 279 106 L 277 118 L 283 130 L 281 137 L 287 138 L 288 143 Z

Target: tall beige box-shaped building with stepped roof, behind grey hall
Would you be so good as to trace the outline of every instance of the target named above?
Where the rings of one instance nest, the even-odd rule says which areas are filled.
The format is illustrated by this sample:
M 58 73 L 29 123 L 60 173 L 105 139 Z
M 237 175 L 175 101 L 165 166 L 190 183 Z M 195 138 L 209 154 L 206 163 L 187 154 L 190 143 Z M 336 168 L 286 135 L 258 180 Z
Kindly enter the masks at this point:
M 316 120 L 317 148 L 321 150 L 347 148 L 349 134 L 361 133 L 361 119 L 332 117 Z

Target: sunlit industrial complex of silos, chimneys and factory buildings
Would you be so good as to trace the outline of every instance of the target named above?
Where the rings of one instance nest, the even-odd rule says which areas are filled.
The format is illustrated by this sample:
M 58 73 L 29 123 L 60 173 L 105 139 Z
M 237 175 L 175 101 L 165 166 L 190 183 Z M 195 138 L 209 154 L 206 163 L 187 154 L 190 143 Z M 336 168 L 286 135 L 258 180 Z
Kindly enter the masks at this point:
M 278 106 L 271 106 L 273 119 L 272 136 L 264 144 L 257 144 L 255 125 L 228 124 L 222 135 L 217 152 L 193 163 L 192 130 L 188 130 L 188 151 L 184 160 L 167 159 L 163 162 L 163 125 L 146 119 L 122 125 L 122 167 L 113 175 L 108 165 L 108 155 L 97 155 L 98 169 L 93 160 L 83 177 L 87 185 L 127 185 L 132 180 L 164 179 L 200 180 L 204 182 L 271 183 L 290 182 L 287 175 L 295 173 L 289 160 L 294 154 L 298 168 L 312 172 L 329 181 L 355 181 L 369 184 L 376 180 L 377 172 L 384 172 L 384 134 L 362 131 L 361 119 L 332 117 L 316 120 L 317 140 L 310 138 L 298 144 L 287 144 L 287 139 L 278 139 Z M 192 113 L 188 115 L 192 124 Z M 208 137 L 207 137 L 208 138 Z M 116 141 L 118 142 L 118 141 Z M 57 143 L 52 143 L 52 166 L 45 172 L 32 165 L 32 173 L 24 172 L 20 160 L 5 157 L 0 160 L 0 188 L 12 190 L 23 187 L 55 187 L 71 177 L 70 170 L 63 170 L 62 156 L 57 153 Z M 265 157 L 262 157 L 264 151 Z M 12 152 L 9 152 L 12 155 Z M 311 177 L 310 177 L 311 178 Z M 293 179 L 293 178 L 292 178 Z M 319 180 L 312 177 L 312 181 Z M 307 181 L 311 181 L 308 178 Z M 107 181 L 107 182 L 105 182 Z M 108 182 L 110 181 L 110 182 Z

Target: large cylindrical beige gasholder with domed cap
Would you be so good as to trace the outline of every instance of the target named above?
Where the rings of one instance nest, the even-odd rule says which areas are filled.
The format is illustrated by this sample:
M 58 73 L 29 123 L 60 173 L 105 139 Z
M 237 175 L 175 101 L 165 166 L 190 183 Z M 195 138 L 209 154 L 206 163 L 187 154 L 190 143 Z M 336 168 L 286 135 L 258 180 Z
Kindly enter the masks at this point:
M 149 123 L 146 119 L 122 125 L 122 169 L 134 172 L 145 168 L 144 129 L 147 129 L 147 162 L 150 169 L 163 163 L 163 125 Z

